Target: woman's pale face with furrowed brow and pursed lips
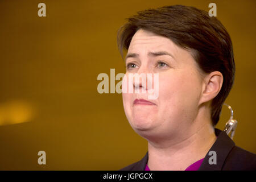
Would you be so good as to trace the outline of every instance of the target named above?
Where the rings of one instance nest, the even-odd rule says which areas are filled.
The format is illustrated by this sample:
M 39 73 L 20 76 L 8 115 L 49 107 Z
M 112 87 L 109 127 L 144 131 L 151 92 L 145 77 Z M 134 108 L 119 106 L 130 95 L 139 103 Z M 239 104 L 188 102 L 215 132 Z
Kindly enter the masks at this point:
M 150 52 L 166 52 L 171 56 L 148 54 Z M 127 77 L 129 73 L 158 73 L 159 76 L 155 100 L 148 100 L 148 93 L 122 94 L 131 127 L 144 138 L 166 138 L 185 132 L 196 118 L 203 89 L 203 78 L 191 53 L 168 38 L 144 30 L 138 30 L 133 36 L 127 55 L 131 53 L 137 56 L 127 56 Z M 154 88 L 157 84 L 154 77 L 152 80 Z M 140 89 L 147 90 L 143 86 Z M 152 104 L 138 102 L 140 99 Z

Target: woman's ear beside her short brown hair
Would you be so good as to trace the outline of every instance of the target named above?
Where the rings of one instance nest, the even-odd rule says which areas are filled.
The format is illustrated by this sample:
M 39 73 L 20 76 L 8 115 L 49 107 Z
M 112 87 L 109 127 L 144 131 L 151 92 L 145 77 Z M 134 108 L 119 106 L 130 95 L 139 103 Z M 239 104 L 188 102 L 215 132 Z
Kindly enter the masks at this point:
M 223 76 L 221 72 L 214 71 L 205 76 L 199 105 L 213 100 L 221 90 Z

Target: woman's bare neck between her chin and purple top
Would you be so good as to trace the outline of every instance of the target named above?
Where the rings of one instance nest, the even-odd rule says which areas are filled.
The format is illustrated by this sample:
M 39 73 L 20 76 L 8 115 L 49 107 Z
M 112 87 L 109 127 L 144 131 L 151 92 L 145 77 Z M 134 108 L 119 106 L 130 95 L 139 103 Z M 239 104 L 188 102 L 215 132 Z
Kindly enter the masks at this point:
M 148 140 L 148 167 L 154 171 L 185 170 L 203 159 L 216 141 L 216 135 L 209 118 L 200 121 L 194 123 L 204 124 L 191 127 L 185 137 L 177 136 L 162 144 Z

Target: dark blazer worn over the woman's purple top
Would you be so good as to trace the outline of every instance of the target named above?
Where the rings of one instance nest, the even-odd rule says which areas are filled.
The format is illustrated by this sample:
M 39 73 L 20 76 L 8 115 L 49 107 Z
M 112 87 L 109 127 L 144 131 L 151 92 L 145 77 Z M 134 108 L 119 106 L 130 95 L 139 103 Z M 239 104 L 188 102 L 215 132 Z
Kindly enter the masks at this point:
M 218 137 L 209 151 L 216 151 L 216 164 L 209 164 L 212 154 L 205 155 L 199 171 L 237 171 L 237 170 L 256 170 L 256 155 L 235 146 L 229 136 L 221 130 L 215 129 Z M 136 163 L 120 169 L 120 171 L 144 171 L 148 160 L 148 152 Z M 212 159 L 210 159 L 212 161 Z

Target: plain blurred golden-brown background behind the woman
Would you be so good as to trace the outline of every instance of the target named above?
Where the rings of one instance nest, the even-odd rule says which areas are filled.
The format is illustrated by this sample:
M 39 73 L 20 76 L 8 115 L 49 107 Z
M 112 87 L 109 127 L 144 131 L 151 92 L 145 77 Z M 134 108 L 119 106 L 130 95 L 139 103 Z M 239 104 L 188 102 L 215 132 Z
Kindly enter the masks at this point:
M 46 3 L 46 17 L 38 3 Z M 125 73 L 117 30 L 139 10 L 187 5 L 227 28 L 236 78 L 226 104 L 234 142 L 256 152 L 255 1 L 0 1 L 0 169 L 117 170 L 140 160 L 147 141 L 131 129 L 121 94 L 99 94 L 99 73 Z M 115 83 L 117 83 L 116 81 Z M 229 119 L 224 106 L 217 128 Z M 39 165 L 38 151 L 46 151 Z

